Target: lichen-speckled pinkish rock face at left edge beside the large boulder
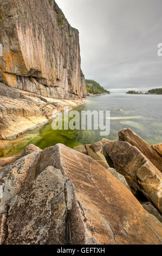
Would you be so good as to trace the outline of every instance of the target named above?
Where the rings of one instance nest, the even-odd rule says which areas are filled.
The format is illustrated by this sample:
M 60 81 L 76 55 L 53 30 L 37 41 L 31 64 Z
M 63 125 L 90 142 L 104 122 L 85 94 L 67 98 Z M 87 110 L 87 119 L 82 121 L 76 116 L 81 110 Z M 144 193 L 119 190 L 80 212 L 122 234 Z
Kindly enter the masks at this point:
M 39 155 L 40 151 L 35 151 L 0 170 L 0 214 L 7 209 L 8 200 L 21 193 L 35 178 Z

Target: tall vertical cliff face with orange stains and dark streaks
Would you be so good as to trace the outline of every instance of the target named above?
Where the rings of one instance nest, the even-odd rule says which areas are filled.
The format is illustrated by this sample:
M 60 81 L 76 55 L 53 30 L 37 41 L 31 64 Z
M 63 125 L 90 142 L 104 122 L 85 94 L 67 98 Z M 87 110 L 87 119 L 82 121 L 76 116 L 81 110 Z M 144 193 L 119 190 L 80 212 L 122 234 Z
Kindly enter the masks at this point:
M 54 0 L 0 1 L 0 81 L 59 99 L 86 97 L 79 32 Z

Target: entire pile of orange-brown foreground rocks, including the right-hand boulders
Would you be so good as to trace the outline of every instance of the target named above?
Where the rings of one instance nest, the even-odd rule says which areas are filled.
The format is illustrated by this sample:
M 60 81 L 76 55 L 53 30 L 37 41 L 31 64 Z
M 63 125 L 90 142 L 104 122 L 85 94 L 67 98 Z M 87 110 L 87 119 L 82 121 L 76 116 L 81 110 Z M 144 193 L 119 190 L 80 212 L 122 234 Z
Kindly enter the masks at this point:
M 30 144 L 21 155 L 0 159 L 1 244 L 63 245 L 67 222 L 73 244 L 161 244 L 162 175 L 154 166 L 161 166 L 161 156 L 156 154 L 124 129 L 115 141 L 75 150 Z

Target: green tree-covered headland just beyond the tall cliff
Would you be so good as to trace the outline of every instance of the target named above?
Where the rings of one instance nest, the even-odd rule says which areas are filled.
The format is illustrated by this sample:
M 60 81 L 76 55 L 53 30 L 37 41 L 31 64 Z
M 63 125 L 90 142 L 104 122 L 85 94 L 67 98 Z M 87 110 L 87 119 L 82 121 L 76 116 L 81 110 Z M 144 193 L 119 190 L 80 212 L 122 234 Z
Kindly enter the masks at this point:
M 94 80 L 86 79 L 86 89 L 87 96 L 100 95 L 100 94 L 109 94 L 109 91 L 100 86 L 99 83 Z

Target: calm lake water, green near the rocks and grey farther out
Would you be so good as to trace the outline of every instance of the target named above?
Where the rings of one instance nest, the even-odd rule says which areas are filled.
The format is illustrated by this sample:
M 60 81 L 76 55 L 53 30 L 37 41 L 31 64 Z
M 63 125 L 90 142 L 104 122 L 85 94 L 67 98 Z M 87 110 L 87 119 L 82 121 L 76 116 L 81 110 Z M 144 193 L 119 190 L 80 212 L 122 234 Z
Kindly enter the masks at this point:
M 162 95 L 130 95 L 112 93 L 110 95 L 88 97 L 87 102 L 76 107 L 82 110 L 109 110 L 111 114 L 110 134 L 100 136 L 99 130 L 56 130 L 51 128 L 51 121 L 41 127 L 26 133 L 24 136 L 9 142 L 1 151 L 1 156 L 20 152 L 32 143 L 44 149 L 63 143 L 70 148 L 76 145 L 94 143 L 103 137 L 118 139 L 118 131 L 131 128 L 149 144 L 162 142 Z M 119 110 L 120 109 L 120 110 Z

